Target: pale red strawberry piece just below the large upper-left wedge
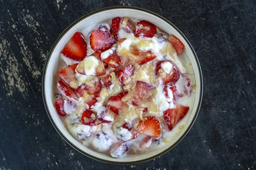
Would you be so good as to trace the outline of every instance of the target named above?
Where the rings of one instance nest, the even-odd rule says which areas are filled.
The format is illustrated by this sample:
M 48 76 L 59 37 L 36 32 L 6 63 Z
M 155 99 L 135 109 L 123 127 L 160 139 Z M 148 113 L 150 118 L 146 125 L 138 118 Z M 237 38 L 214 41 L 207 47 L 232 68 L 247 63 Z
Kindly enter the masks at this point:
M 57 72 L 58 76 L 68 85 L 70 85 L 70 82 L 76 82 L 76 66 L 78 64 L 74 65 L 68 65 L 66 68 L 63 68 Z

